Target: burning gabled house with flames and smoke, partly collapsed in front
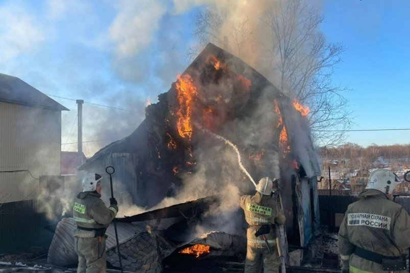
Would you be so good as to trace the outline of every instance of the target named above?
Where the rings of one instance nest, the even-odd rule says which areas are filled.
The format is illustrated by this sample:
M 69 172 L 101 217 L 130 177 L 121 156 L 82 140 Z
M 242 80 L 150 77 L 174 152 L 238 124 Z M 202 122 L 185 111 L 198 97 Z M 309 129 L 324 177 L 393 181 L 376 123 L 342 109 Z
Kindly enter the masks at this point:
M 266 176 L 280 181 L 287 241 L 306 246 L 319 226 L 320 176 L 307 114 L 244 61 L 208 44 L 130 136 L 81 169 L 115 168 L 114 195 L 125 216 L 118 221 L 158 231 L 172 245 L 158 247 L 162 258 L 197 244 L 229 253 L 226 239 L 246 251 L 239 196 L 253 194 Z

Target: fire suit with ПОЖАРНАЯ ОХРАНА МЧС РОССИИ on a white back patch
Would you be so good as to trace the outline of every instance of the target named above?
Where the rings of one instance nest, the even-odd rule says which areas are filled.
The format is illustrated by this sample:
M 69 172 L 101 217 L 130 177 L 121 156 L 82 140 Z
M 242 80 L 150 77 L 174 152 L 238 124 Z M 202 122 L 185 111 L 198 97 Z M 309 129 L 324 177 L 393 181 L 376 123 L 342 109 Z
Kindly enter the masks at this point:
M 366 189 L 359 198 L 348 206 L 340 226 L 338 246 L 342 262 L 347 264 L 348 260 L 349 271 L 353 273 L 385 273 L 381 263 L 369 259 L 377 254 L 399 257 L 410 247 L 410 217 L 402 206 L 379 190 Z M 363 252 L 368 251 L 376 256 L 363 258 Z

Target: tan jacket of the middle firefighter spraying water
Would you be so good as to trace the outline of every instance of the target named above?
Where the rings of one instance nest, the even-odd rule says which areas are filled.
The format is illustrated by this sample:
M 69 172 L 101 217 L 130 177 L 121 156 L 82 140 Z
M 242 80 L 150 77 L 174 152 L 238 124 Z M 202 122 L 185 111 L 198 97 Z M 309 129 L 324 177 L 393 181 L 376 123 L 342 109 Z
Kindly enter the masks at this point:
M 257 248 L 267 247 L 261 236 L 255 237 L 255 232 L 262 225 L 273 225 L 275 222 L 281 225 L 285 222 L 285 216 L 280 212 L 275 200 L 269 195 L 256 192 L 255 195 L 240 197 L 240 207 L 244 210 L 245 220 L 250 226 L 247 231 L 248 245 Z M 276 243 L 273 227 L 265 236 L 271 246 Z

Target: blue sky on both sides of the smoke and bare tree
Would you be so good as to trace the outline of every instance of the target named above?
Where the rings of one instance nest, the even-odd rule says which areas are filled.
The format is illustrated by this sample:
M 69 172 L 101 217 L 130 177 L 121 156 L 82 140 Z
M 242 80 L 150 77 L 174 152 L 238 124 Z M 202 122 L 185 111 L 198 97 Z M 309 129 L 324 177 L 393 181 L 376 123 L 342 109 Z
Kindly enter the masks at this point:
M 0 0 L 0 73 L 26 81 L 70 109 L 62 114 L 62 143 L 77 141 L 75 100 L 84 100 L 83 149 L 91 156 L 132 133 L 147 101 L 155 103 L 171 87 L 189 64 L 188 47 L 196 44 L 191 36 L 195 14 L 212 2 Z M 410 2 L 317 3 L 325 18 L 321 31 L 346 47 L 333 81 L 351 89 L 345 97 L 353 111 L 352 129 L 410 128 Z M 408 133 L 350 132 L 346 141 L 407 144 Z

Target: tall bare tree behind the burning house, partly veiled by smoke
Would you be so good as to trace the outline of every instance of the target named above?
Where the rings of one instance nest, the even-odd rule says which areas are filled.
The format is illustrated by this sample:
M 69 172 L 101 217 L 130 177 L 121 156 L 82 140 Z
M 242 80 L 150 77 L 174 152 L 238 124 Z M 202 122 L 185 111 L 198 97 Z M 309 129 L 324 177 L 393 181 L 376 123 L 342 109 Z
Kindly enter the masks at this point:
M 258 51 L 259 59 L 250 63 L 282 92 L 293 94 L 309 107 L 315 142 L 321 146 L 340 144 L 351 122 L 342 94 L 347 89 L 333 85 L 331 76 L 344 46 L 326 42 L 318 30 L 323 22 L 319 11 L 302 0 L 277 1 L 263 6 L 260 16 L 242 13 L 239 19 L 236 14 L 236 20 L 229 20 L 233 10 L 209 8 L 199 12 L 194 37 L 202 46 L 212 42 L 222 47 L 227 36 L 230 51 L 245 61 Z M 195 53 L 191 48 L 189 54 Z

